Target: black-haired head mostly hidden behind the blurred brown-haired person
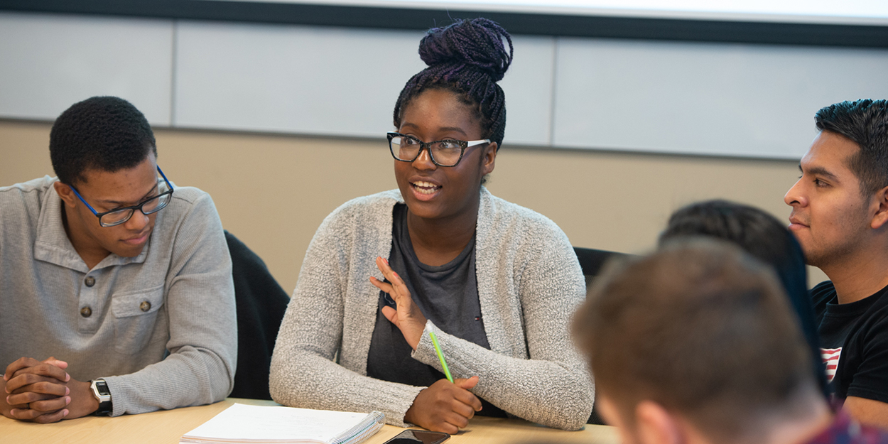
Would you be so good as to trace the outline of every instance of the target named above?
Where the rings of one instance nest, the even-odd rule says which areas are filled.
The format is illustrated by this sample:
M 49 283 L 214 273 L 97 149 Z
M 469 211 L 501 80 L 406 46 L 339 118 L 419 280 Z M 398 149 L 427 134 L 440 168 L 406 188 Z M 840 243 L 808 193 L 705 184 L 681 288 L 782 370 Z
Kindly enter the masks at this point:
M 821 361 L 821 341 L 808 294 L 805 255 L 796 238 L 763 210 L 722 200 L 696 202 L 672 213 L 660 234 L 660 245 L 689 236 L 707 236 L 731 242 L 753 257 L 774 267 L 789 296 L 797 320 L 811 349 L 814 374 L 824 393 L 827 378 Z

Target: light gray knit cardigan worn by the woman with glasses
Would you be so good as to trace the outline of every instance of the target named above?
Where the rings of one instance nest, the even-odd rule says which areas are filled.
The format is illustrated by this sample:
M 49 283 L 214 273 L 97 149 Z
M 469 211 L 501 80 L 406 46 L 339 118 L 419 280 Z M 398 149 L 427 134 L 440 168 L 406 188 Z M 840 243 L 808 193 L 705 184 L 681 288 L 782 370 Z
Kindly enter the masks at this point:
M 367 377 L 382 280 L 377 256 L 392 250 L 398 190 L 345 202 L 314 234 L 281 322 L 269 388 L 283 405 L 404 414 L 425 387 Z M 476 225 L 478 297 L 490 350 L 429 321 L 413 358 L 440 370 L 435 329 L 453 377 L 480 377 L 472 392 L 507 413 L 577 430 L 589 418 L 594 385 L 568 333 L 585 297 L 583 272 L 567 236 L 550 219 L 481 188 Z

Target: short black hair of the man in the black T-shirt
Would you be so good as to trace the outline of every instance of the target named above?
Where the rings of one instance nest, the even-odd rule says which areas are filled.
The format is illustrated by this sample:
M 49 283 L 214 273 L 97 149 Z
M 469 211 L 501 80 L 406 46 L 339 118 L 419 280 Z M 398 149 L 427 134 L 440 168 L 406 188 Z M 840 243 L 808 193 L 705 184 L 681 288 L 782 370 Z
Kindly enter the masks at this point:
M 848 168 L 860 179 L 867 195 L 888 186 L 888 103 L 885 100 L 844 101 L 821 108 L 814 115 L 820 131 L 835 132 L 860 147 Z

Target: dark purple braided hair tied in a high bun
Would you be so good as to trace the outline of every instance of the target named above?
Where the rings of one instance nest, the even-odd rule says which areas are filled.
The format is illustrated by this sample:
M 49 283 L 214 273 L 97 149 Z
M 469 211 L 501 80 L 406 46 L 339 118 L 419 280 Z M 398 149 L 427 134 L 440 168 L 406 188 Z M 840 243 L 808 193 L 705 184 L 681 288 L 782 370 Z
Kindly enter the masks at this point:
M 511 36 L 493 20 L 456 20 L 447 28 L 429 29 L 419 42 L 419 57 L 428 67 L 410 77 L 400 91 L 395 127 L 410 100 L 427 89 L 441 88 L 478 107 L 485 138 L 496 142 L 498 149 L 505 134 L 505 94 L 496 82 L 509 69 L 512 52 Z

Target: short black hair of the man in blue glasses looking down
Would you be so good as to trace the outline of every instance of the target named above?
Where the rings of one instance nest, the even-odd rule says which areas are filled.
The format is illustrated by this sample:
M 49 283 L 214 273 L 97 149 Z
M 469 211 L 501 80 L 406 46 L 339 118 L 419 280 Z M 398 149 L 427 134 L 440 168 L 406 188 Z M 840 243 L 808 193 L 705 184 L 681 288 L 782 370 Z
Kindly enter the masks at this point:
M 114 172 L 157 156 L 155 134 L 130 102 L 111 96 L 77 102 L 59 115 L 50 131 L 50 158 L 59 181 L 83 182 L 90 169 Z

